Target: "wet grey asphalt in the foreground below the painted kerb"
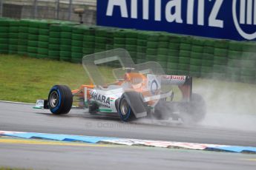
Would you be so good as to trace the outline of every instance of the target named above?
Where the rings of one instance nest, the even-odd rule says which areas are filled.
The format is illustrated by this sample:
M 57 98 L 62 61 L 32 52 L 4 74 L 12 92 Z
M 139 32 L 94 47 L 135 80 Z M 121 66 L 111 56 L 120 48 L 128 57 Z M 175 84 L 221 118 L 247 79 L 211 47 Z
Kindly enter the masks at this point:
M 138 146 L 45 146 L 0 143 L 0 165 L 33 169 L 255 169 L 253 154 Z

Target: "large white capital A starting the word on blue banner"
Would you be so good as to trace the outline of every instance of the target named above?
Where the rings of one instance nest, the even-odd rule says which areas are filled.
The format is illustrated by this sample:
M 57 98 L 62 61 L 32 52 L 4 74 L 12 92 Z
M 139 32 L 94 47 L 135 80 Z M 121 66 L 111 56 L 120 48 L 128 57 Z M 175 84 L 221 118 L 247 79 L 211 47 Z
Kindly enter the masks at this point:
M 128 18 L 126 0 L 108 0 L 107 16 L 113 16 L 114 6 L 119 6 L 121 16 L 123 18 Z

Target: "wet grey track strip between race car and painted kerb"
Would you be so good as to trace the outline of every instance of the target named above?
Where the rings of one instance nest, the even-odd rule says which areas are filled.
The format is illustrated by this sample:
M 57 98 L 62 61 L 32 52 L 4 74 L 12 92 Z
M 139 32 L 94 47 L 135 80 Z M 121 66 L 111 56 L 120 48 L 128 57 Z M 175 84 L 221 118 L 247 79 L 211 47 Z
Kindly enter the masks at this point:
M 1 103 L 2 131 L 42 132 L 66 135 L 125 137 L 145 140 L 168 140 L 234 146 L 256 146 L 256 131 L 217 129 L 208 126 L 182 126 L 157 120 L 122 123 L 119 118 L 91 116 L 73 109 L 68 115 L 56 116 L 49 110 L 32 109 L 33 105 Z

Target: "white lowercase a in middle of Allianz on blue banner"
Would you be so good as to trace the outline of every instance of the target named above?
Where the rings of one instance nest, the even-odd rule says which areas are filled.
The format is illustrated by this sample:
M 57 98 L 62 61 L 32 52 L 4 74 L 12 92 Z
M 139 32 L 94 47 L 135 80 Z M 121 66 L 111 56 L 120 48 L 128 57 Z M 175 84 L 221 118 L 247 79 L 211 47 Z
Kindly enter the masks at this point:
M 175 12 L 171 13 L 173 8 Z M 181 18 L 181 0 L 168 1 L 165 7 L 165 18 L 168 22 L 176 21 L 177 23 L 183 23 Z

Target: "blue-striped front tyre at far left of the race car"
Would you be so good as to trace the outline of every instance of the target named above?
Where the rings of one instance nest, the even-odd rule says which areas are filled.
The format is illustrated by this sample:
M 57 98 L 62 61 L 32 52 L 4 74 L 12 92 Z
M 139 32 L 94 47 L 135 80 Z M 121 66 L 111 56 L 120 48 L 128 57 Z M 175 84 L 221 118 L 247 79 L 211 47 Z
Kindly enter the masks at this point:
M 48 95 L 50 112 L 54 115 L 67 114 L 73 103 L 73 95 L 68 86 L 55 85 L 50 89 Z

